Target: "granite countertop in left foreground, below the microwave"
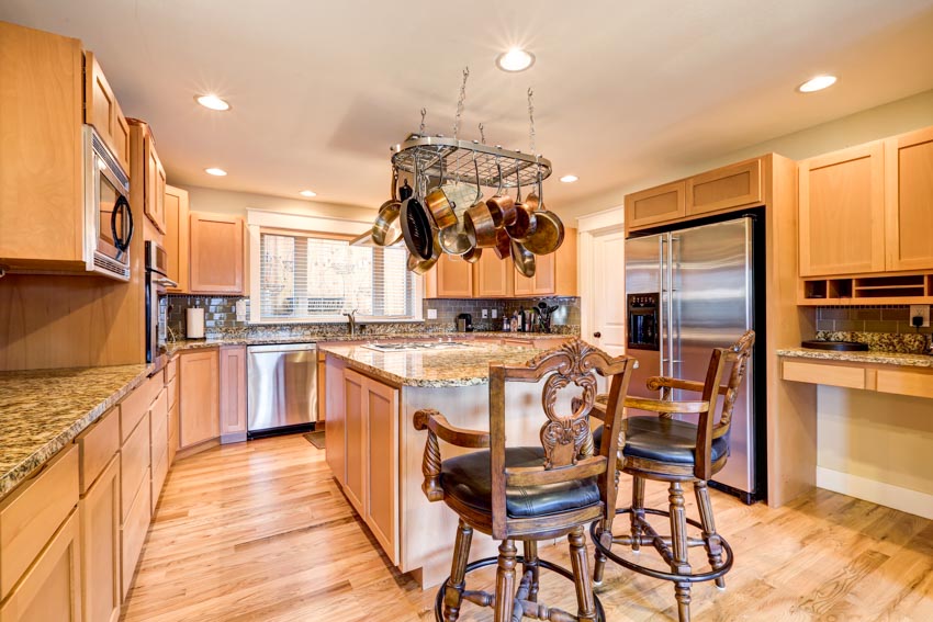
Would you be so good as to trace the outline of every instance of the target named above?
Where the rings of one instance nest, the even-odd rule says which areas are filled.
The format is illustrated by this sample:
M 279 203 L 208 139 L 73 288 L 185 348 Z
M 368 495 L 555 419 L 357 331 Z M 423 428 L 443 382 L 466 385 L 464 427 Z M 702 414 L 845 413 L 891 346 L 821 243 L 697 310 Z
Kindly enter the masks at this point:
M 0 372 L 0 497 L 142 384 L 149 369 Z

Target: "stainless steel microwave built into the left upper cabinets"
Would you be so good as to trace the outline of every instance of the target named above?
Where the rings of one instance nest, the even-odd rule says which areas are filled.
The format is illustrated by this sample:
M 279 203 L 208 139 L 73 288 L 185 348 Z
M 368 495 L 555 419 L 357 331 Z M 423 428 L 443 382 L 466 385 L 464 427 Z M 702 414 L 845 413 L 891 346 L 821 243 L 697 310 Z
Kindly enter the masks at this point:
M 85 125 L 85 262 L 89 272 L 130 280 L 130 178 L 92 125 Z

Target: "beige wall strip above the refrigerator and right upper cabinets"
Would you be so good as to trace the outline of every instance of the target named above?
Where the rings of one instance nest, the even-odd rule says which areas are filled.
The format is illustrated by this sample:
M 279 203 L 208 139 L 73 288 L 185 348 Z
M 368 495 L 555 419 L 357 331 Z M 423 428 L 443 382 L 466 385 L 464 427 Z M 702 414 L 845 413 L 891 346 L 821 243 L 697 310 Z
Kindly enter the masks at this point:
M 902 100 L 868 109 L 821 125 L 814 125 L 779 136 L 764 143 L 751 145 L 730 154 L 710 154 L 710 157 L 686 167 L 659 169 L 654 174 L 636 183 L 616 188 L 578 203 L 566 205 L 561 216 L 576 218 L 585 214 L 602 212 L 622 205 L 626 194 L 644 190 L 675 179 L 682 179 L 731 162 L 738 162 L 774 151 L 794 160 L 834 151 L 911 129 L 933 125 L 933 90 Z

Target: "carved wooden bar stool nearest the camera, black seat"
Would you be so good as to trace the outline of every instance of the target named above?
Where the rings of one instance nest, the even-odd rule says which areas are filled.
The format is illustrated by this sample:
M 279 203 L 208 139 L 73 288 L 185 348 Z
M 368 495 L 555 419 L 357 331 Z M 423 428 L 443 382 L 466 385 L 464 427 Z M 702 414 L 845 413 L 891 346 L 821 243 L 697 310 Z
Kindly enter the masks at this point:
M 488 432 L 456 428 L 437 410 L 415 412 L 415 428 L 428 431 L 421 489 L 429 500 L 445 501 L 460 517 L 450 577 L 438 590 L 438 620 L 457 620 L 463 600 L 492 607 L 496 622 L 522 617 L 567 622 L 605 619 L 589 581 L 584 527 L 596 519 L 611 523 L 616 443 L 633 361 L 629 357 L 611 359 L 577 339 L 526 365 L 491 364 Z M 604 443 L 598 454 L 589 428 L 597 373 L 607 376 L 610 386 L 603 408 L 604 437 L 610 442 Z M 546 377 L 541 445 L 506 446 L 506 383 Z M 555 412 L 558 394 L 569 385 L 581 391 L 576 407 L 567 415 Z M 442 461 L 439 440 L 480 451 Z M 502 541 L 498 557 L 468 565 L 474 529 Z M 572 572 L 538 558 L 539 540 L 563 535 L 570 542 Z M 522 556 L 517 555 L 516 541 L 522 543 Z M 493 563 L 497 564 L 495 592 L 468 590 L 466 575 Z M 521 564 L 521 579 L 516 588 L 517 563 Z M 538 602 L 540 568 L 574 581 L 575 615 Z

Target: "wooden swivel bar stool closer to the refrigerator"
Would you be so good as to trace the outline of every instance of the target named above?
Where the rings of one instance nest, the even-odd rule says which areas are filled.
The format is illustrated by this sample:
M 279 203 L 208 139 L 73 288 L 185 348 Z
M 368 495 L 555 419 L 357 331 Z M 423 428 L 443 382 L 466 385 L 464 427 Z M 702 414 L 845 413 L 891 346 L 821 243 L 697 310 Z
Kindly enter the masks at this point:
M 616 513 L 629 514 L 630 532 L 627 535 L 614 535 L 614 517 L 610 512 L 607 512 L 606 518 L 594 521 L 591 527 L 596 545 L 594 583 L 598 585 L 603 581 L 607 558 L 637 573 L 673 581 L 681 622 L 688 622 L 690 619 L 690 584 L 715 580 L 717 587 L 724 588 L 723 575 L 732 567 L 732 550 L 716 530 L 707 482 L 726 466 L 732 408 L 745 377 L 754 342 L 755 333 L 749 330 L 731 348 L 713 349 L 705 382 L 656 376 L 648 380 L 648 388 L 660 389 L 662 399 L 625 399 L 626 408 L 659 414 L 657 417 L 626 417 L 620 426 L 621 438 L 618 445 L 622 448 L 622 453 L 617 468 L 633 477 L 632 505 Z M 728 380 L 721 384 L 723 376 Z M 698 393 L 699 400 L 672 402 L 673 389 Z M 722 396 L 721 400 L 719 396 Z M 602 402 L 600 396 L 594 408 L 596 416 L 599 416 Z M 722 406 L 717 418 L 719 402 Z M 696 415 L 698 422 L 681 421 L 674 419 L 674 415 Z M 605 437 L 600 438 L 597 433 L 597 444 L 602 440 L 605 440 Z M 668 483 L 667 511 L 644 507 L 645 479 Z M 682 487 L 685 482 L 694 484 L 699 522 L 686 517 Z M 660 535 L 645 520 L 645 514 L 670 517 L 671 535 Z M 700 538 L 688 536 L 687 524 L 699 529 Z M 612 544 L 631 546 L 632 551 L 639 551 L 642 545 L 653 546 L 664 563 L 670 565 L 671 572 L 625 559 L 612 553 Z M 692 570 L 688 550 L 693 546 L 706 549 L 711 570 Z

